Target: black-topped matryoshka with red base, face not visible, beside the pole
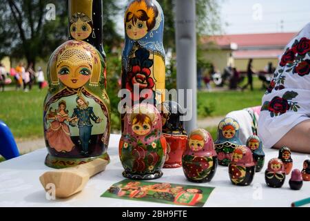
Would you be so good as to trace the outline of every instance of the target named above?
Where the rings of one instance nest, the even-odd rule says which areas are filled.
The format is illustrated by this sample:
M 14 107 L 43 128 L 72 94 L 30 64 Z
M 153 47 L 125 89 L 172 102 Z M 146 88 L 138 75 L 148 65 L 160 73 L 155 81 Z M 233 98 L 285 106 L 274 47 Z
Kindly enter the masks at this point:
M 167 158 L 164 168 L 182 166 L 182 155 L 187 142 L 187 133 L 180 119 L 182 115 L 183 110 L 177 102 L 169 101 L 161 104 L 163 134 L 167 141 Z

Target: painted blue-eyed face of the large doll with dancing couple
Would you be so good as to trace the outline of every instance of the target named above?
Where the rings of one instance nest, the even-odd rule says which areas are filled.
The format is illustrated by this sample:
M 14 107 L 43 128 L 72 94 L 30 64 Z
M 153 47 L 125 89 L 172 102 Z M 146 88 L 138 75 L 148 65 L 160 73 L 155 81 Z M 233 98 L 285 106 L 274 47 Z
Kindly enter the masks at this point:
M 92 77 L 92 66 L 88 62 L 81 62 L 74 65 L 72 62 L 63 61 L 57 67 L 60 81 L 69 88 L 81 88 Z

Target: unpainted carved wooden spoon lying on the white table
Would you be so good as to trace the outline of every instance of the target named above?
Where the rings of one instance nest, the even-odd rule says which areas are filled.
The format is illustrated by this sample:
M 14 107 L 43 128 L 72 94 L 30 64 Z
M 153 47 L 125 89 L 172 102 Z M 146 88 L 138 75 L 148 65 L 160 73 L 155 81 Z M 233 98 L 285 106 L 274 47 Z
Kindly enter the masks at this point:
M 48 184 L 54 184 L 57 198 L 68 198 L 82 191 L 90 177 L 104 171 L 107 163 L 107 160 L 98 158 L 79 166 L 48 171 L 41 175 L 40 182 L 45 191 L 50 191 L 47 189 Z

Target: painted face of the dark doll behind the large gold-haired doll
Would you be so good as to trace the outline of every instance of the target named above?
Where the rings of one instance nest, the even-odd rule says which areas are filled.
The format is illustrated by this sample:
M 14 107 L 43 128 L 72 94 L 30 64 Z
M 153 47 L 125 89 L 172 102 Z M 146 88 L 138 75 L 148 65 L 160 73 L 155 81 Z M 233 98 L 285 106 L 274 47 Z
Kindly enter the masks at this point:
M 87 37 L 90 37 L 91 33 L 92 26 L 87 22 L 81 21 L 81 19 L 70 26 L 70 34 L 76 40 L 85 40 Z

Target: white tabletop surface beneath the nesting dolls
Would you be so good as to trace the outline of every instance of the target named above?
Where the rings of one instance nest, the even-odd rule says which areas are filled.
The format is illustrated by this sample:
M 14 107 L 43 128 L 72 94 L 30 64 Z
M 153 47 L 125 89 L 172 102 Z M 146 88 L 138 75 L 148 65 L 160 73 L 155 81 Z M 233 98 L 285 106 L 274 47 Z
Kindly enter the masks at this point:
M 174 206 L 152 202 L 136 202 L 101 198 L 112 184 L 123 180 L 123 167 L 118 157 L 118 140 L 120 135 L 111 135 L 108 153 L 111 163 L 107 169 L 93 177 L 85 189 L 65 200 L 47 200 L 45 191 L 39 182 L 39 176 L 50 168 L 44 165 L 47 150 L 34 151 L 13 160 L 0 163 L 0 206 Z M 177 184 L 194 184 L 200 186 L 215 186 L 205 206 L 290 206 L 291 202 L 310 196 L 310 182 L 304 182 L 300 191 L 289 189 L 287 176 L 281 189 L 269 188 L 265 184 L 264 172 L 267 161 L 277 157 L 278 151 L 265 150 L 265 167 L 256 173 L 251 186 L 234 186 L 228 176 L 227 167 L 218 166 L 214 179 L 210 183 L 194 184 L 187 182 L 180 169 L 164 169 L 163 177 L 154 182 L 171 182 Z M 293 168 L 302 169 L 303 161 L 309 155 L 293 153 Z M 308 204 L 309 206 L 309 204 Z

